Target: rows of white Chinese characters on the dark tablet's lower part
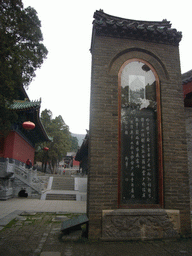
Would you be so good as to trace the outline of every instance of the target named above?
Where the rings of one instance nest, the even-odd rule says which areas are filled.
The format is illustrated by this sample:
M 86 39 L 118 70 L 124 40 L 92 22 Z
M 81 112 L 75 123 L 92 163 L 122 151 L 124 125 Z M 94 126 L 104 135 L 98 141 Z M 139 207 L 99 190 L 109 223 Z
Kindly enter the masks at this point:
M 156 148 L 153 111 L 126 109 L 122 123 L 122 200 L 156 203 Z

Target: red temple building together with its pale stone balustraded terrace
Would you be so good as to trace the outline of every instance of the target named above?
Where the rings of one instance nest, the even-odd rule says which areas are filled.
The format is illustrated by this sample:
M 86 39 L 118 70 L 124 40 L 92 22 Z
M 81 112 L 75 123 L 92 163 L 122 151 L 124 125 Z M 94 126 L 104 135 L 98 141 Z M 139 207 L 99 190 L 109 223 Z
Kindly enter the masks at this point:
M 36 170 L 29 171 L 25 166 L 27 159 L 34 165 L 35 144 L 50 141 L 39 118 L 40 106 L 41 100 L 30 101 L 23 87 L 10 106 L 18 118 L 6 136 L 0 131 L 0 200 L 21 194 L 41 194 Z M 30 122 L 33 129 L 27 129 L 23 125 L 25 122 Z

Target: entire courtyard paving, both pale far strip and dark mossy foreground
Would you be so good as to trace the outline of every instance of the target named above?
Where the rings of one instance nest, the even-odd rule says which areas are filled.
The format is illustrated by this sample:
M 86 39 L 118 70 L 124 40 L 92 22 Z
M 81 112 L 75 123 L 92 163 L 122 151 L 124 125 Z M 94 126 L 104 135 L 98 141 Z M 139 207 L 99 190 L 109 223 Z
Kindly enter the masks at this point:
M 192 239 L 189 238 L 157 241 L 102 242 L 80 238 L 81 231 L 68 235 L 64 235 L 61 232 L 63 220 L 85 212 L 86 202 L 84 201 L 51 201 L 19 198 L 0 201 L 0 255 L 192 255 Z M 7 225 L 8 223 L 9 225 Z

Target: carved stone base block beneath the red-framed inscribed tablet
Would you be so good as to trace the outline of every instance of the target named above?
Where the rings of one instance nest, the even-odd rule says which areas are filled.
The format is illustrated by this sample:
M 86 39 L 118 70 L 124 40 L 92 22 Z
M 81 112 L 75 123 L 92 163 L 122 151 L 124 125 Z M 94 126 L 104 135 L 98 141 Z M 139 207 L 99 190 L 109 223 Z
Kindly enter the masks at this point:
M 102 211 L 103 240 L 177 238 L 180 212 L 165 209 L 118 209 Z

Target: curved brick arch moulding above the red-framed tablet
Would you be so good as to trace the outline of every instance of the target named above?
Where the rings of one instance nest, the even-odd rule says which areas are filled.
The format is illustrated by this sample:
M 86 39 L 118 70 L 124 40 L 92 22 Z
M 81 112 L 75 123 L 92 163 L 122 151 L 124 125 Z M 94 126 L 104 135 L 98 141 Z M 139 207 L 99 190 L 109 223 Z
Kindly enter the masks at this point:
M 129 59 L 148 62 L 156 70 L 160 80 L 169 80 L 169 74 L 161 59 L 151 51 L 142 48 L 129 48 L 119 52 L 110 62 L 109 75 L 118 75 L 122 65 Z

